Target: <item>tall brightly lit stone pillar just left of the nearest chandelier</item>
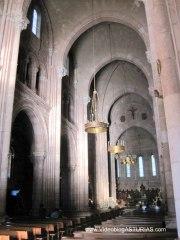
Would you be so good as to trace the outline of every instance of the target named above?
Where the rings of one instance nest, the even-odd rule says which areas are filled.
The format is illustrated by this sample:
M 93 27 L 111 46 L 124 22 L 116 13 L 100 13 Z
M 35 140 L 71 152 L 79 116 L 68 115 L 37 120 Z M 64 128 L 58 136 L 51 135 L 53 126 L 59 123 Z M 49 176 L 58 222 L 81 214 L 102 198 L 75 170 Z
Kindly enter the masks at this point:
M 77 76 L 76 76 L 77 77 Z M 77 80 L 77 79 L 75 79 Z M 75 87 L 76 88 L 76 87 Z M 74 200 L 75 207 L 78 214 L 87 214 L 89 211 L 88 205 L 88 137 L 84 129 L 84 124 L 87 121 L 87 103 L 89 98 L 82 97 L 82 92 L 78 92 L 76 88 L 75 92 L 75 116 L 77 122 L 77 166 L 76 166 L 76 185 L 74 186 Z M 75 94 L 76 94 L 75 93 Z

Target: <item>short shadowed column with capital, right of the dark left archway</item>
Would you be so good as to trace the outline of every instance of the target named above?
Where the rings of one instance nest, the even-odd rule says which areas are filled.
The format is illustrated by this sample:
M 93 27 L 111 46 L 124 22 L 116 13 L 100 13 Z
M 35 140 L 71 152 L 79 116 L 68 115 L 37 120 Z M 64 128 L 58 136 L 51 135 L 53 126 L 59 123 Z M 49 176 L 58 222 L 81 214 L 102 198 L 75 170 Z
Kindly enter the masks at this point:
M 33 214 L 38 215 L 39 205 L 43 202 L 43 169 L 45 155 L 35 153 L 33 160 Z

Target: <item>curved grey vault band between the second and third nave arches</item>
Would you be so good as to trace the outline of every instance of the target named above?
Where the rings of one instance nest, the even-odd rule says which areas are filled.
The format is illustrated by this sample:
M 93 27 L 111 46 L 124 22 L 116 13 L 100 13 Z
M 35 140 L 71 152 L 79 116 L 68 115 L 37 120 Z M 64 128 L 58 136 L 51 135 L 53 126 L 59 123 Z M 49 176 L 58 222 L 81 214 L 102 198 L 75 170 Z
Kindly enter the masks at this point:
M 122 63 L 121 63 L 122 62 Z M 124 69 L 123 67 L 123 62 L 125 64 L 127 64 L 127 67 Z M 129 72 L 128 69 L 131 67 L 130 65 L 132 64 L 132 70 Z M 103 67 L 106 68 L 107 65 L 104 65 Z M 101 68 L 102 69 L 102 68 Z M 108 70 L 109 69 L 109 70 Z M 101 71 L 101 70 L 100 70 Z M 107 74 L 109 72 L 109 75 L 104 75 L 105 77 L 103 77 L 103 72 L 105 72 L 105 74 Z M 137 73 L 136 73 L 137 72 Z M 109 96 L 109 100 L 107 102 L 107 91 L 111 89 L 110 84 L 112 85 L 112 82 L 117 78 L 117 74 L 121 74 L 123 75 L 123 77 L 120 77 L 120 79 L 124 78 L 124 81 L 121 80 L 121 84 L 125 83 L 126 80 L 128 80 L 127 82 L 129 82 L 129 79 L 131 79 L 132 77 L 132 73 L 135 73 L 135 79 L 139 79 L 140 82 L 143 83 L 143 91 L 142 89 L 139 91 L 136 88 L 136 85 L 129 85 L 127 83 L 125 83 L 123 85 L 122 88 L 118 87 L 118 85 L 116 85 L 116 91 L 114 91 L 113 95 Z M 98 74 L 98 73 L 97 73 Z M 103 77 L 103 79 L 101 79 Z M 110 61 L 109 66 L 107 66 L 107 68 L 105 70 L 102 69 L 102 77 L 101 77 L 101 73 L 100 73 L 100 80 L 101 80 L 101 84 L 98 82 L 98 75 L 96 77 L 96 79 L 98 81 L 96 81 L 96 85 L 97 85 L 97 90 L 101 96 L 101 98 L 99 99 L 99 114 L 103 119 L 106 119 L 106 121 L 109 119 L 109 111 L 112 109 L 112 107 L 114 106 L 114 104 L 122 97 L 124 97 L 125 95 L 128 94 L 135 94 L 135 95 L 139 95 L 140 97 L 143 98 L 143 100 L 148 103 L 148 105 L 150 106 L 151 110 L 153 109 L 153 102 L 152 102 L 152 98 L 149 92 L 149 83 L 147 81 L 147 77 L 145 76 L 144 72 L 141 71 L 141 69 L 139 69 L 139 67 L 137 67 L 137 65 L 135 65 L 132 62 L 129 62 L 127 60 L 125 61 L 121 61 L 119 59 L 114 60 L 114 61 Z M 115 78 L 116 77 L 116 78 Z M 91 79 L 93 80 L 93 76 L 91 77 Z M 104 80 L 103 84 L 102 84 L 102 80 Z M 137 82 L 137 81 L 136 81 Z M 91 82 L 92 83 L 92 82 Z M 117 80 L 116 80 L 116 84 Z M 98 88 L 100 86 L 100 88 L 103 87 L 103 92 L 99 91 L 100 88 Z M 92 89 L 91 86 L 89 87 L 89 89 Z M 112 89 L 111 89 L 112 90 Z M 90 94 L 90 91 L 89 91 Z M 105 97 L 106 96 L 106 97 Z

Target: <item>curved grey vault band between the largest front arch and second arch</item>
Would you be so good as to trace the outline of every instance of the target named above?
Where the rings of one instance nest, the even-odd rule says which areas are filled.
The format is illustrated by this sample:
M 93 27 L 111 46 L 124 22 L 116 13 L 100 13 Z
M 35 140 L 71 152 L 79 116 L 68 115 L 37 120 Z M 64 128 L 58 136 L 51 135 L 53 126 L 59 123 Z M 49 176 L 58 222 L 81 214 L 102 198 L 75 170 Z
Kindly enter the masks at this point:
M 112 35 L 114 41 L 114 48 L 112 53 L 108 48 L 109 39 L 111 37 L 109 35 L 110 33 L 108 34 L 108 31 L 110 31 L 108 30 L 109 26 L 112 26 L 112 31 L 116 32 L 116 35 Z M 98 47 L 98 54 L 94 60 L 94 63 L 92 63 L 91 51 L 88 50 L 88 48 L 92 48 L 92 31 L 93 29 L 91 28 L 88 30 L 88 32 L 85 32 L 82 36 L 80 36 L 80 38 L 77 40 L 77 43 L 71 49 L 72 53 L 74 55 L 77 55 L 77 74 L 78 71 L 81 73 L 82 69 L 86 71 L 86 76 L 83 77 L 83 79 L 81 78 L 82 74 L 78 75 L 78 87 L 83 88 L 84 94 L 89 94 L 89 89 L 94 74 L 107 64 L 118 60 L 127 60 L 129 64 L 134 64 L 138 69 L 141 70 L 144 76 L 146 76 L 146 79 L 149 81 L 149 85 L 152 86 L 151 69 L 145 55 L 145 44 L 137 32 L 135 32 L 132 28 L 119 23 L 103 22 L 99 25 L 96 25 L 94 32 L 96 48 Z M 99 34 L 103 34 L 103 37 L 105 38 L 103 44 L 100 41 Z M 134 48 L 132 41 L 130 40 L 133 37 L 135 38 L 135 43 L 133 44 L 135 44 L 137 48 Z M 125 39 L 127 39 L 127 41 L 125 41 Z M 122 44 L 120 40 L 123 40 Z M 88 67 L 87 64 L 83 62 L 84 51 L 86 51 L 87 56 L 89 56 Z

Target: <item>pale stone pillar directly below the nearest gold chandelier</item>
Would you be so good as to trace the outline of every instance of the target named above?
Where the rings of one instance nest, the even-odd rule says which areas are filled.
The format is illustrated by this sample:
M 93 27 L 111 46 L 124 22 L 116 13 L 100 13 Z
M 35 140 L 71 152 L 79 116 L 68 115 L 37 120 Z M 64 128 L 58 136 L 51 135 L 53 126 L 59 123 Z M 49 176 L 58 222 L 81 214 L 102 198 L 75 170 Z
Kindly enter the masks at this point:
M 99 210 L 109 207 L 107 133 L 96 134 L 96 205 Z

